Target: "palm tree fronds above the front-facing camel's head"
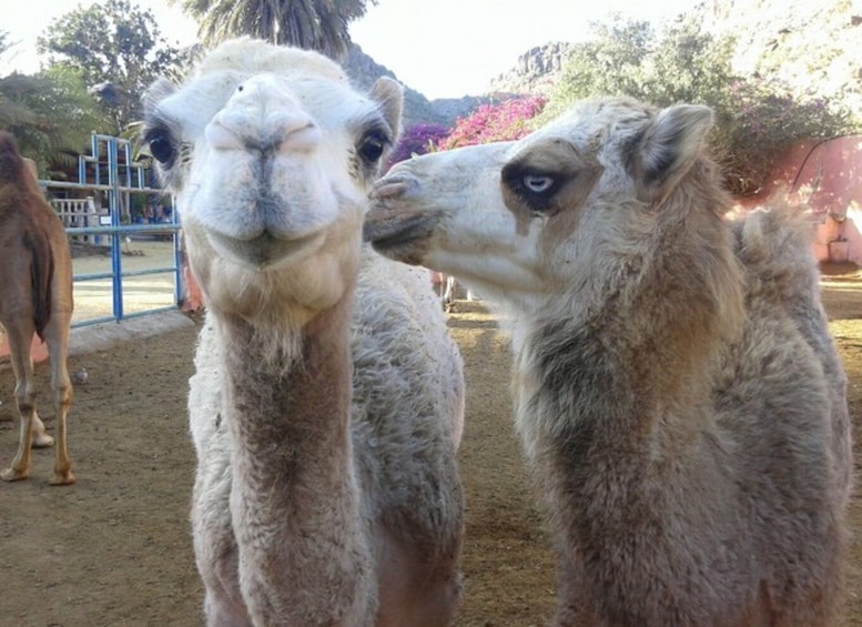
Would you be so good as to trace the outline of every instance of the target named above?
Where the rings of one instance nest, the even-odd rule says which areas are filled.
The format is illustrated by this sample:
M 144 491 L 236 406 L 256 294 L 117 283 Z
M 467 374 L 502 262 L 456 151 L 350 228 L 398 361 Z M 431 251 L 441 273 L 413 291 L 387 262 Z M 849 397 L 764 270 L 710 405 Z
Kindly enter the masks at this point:
M 366 0 L 169 0 L 197 20 L 206 45 L 249 34 L 273 43 L 317 50 L 333 59 L 347 53 L 347 24 L 365 14 Z M 377 0 L 371 0 L 376 4 Z

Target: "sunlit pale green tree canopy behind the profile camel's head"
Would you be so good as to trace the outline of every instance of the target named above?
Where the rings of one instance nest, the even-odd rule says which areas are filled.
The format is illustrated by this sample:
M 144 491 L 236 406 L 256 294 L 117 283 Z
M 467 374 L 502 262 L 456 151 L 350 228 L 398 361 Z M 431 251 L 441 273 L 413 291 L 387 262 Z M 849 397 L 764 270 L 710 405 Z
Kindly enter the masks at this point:
M 849 112 L 825 99 L 791 95 L 787 85 L 732 69 L 736 42 L 714 37 L 694 19 L 657 32 L 648 22 L 616 17 L 591 26 L 594 37 L 572 45 L 542 123 L 575 100 L 629 95 L 667 107 L 702 103 L 716 112 L 711 140 L 737 195 L 755 193 L 775 153 L 800 140 L 854 130 Z

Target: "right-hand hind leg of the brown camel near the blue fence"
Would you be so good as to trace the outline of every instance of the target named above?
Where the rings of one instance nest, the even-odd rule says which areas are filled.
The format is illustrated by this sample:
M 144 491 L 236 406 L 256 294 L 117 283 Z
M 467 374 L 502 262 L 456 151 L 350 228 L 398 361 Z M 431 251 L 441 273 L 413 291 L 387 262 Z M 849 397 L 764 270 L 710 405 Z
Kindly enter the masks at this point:
M 72 382 L 69 378 L 69 328 L 71 312 L 54 312 L 45 326 L 44 338 L 51 356 L 51 391 L 57 416 L 57 449 L 51 485 L 71 485 L 75 478 L 67 449 L 67 416 L 72 405 Z

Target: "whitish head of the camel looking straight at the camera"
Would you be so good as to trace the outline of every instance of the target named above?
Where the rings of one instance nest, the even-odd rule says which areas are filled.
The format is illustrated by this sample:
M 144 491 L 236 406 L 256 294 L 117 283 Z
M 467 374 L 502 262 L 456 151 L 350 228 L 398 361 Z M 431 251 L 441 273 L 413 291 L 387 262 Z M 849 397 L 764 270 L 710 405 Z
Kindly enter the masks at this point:
M 321 54 L 247 38 L 220 45 L 182 85 L 153 84 L 143 141 L 176 194 L 207 306 L 307 317 L 349 291 L 400 109 L 394 81 L 366 97 Z

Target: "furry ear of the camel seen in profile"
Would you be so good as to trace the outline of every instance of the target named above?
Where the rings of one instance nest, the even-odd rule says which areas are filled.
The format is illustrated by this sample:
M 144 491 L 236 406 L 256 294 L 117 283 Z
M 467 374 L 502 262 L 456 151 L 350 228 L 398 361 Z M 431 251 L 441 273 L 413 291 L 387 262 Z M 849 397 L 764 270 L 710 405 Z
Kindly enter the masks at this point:
M 709 107 L 678 104 L 661 110 L 632 155 L 638 198 L 661 204 L 703 150 L 711 128 Z

